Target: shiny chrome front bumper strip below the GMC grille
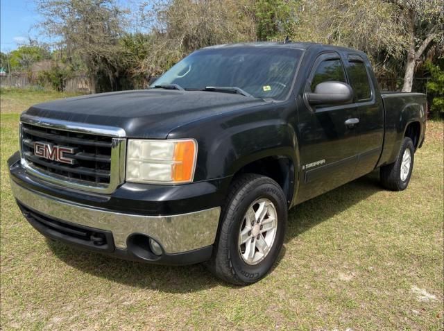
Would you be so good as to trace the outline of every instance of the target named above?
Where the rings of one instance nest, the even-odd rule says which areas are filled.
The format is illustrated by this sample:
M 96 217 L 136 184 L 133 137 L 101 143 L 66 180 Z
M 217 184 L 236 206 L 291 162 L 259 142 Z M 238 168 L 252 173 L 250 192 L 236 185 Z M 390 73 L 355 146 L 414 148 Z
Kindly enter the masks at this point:
M 182 253 L 214 244 L 220 207 L 172 216 L 123 214 L 76 205 L 52 196 L 38 194 L 11 180 L 17 201 L 46 216 L 91 228 L 108 230 L 117 248 L 126 248 L 126 239 L 143 233 L 156 239 L 165 253 Z

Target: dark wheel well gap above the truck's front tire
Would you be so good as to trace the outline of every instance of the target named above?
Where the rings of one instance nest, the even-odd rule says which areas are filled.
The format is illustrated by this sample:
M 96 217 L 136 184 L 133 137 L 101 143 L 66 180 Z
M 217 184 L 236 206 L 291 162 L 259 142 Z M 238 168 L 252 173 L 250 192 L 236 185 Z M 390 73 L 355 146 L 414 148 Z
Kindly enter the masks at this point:
M 294 167 L 293 162 L 287 156 L 269 156 L 248 163 L 234 173 L 233 179 L 243 173 L 256 173 L 275 180 L 287 196 L 287 204 L 291 203 L 294 187 Z

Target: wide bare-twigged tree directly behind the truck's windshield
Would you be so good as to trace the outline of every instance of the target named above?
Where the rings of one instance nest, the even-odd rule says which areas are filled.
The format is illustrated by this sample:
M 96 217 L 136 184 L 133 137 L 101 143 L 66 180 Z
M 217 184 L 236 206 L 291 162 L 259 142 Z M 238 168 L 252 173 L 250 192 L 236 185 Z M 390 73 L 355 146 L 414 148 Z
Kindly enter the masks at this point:
M 142 71 L 161 74 L 191 51 L 214 44 L 256 40 L 252 0 L 164 0 L 146 3 L 151 51 Z

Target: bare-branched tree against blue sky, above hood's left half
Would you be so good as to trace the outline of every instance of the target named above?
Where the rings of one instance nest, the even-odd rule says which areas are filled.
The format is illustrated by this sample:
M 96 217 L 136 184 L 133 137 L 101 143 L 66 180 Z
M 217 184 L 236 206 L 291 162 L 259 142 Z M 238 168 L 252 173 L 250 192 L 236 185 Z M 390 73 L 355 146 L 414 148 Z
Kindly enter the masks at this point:
M 114 0 L 37 0 L 47 34 L 64 44 L 68 58 L 78 54 L 87 68 L 94 93 L 100 72 L 110 83 L 119 75 L 119 36 L 125 11 Z

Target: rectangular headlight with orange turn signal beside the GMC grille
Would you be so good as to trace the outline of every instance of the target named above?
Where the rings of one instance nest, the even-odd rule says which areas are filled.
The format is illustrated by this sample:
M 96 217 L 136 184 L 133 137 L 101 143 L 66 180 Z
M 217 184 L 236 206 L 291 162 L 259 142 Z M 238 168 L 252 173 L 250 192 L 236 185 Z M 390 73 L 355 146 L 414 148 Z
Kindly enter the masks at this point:
M 126 181 L 188 183 L 193 180 L 197 142 L 194 139 L 128 139 Z

